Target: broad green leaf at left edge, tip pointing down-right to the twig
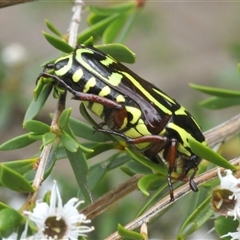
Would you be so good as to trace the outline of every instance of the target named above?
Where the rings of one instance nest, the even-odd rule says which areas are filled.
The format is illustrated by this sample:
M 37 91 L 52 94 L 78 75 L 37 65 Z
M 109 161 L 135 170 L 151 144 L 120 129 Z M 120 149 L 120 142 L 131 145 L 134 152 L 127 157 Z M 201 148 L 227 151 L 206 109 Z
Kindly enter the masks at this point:
M 18 192 L 34 192 L 32 185 L 19 173 L 0 165 L 0 182 L 3 186 Z

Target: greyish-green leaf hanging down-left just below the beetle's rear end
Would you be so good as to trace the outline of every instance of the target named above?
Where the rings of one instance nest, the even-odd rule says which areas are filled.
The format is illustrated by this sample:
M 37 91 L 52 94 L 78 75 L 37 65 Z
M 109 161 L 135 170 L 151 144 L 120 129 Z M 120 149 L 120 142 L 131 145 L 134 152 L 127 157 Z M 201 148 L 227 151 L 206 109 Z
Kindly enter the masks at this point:
M 52 91 L 52 84 L 44 85 L 37 100 L 36 101 L 32 100 L 32 102 L 30 103 L 25 113 L 23 122 L 27 122 L 33 119 L 40 112 L 51 91 Z

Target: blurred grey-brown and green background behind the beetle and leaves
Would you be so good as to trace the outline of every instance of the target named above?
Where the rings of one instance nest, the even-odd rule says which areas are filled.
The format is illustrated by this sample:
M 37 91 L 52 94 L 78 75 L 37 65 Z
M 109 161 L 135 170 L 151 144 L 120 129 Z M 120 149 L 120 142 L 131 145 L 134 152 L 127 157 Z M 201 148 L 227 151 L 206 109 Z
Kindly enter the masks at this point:
M 114 2 L 119 1 L 85 1 L 85 4 L 107 7 Z M 40 65 L 59 56 L 42 35 L 42 31 L 48 31 L 44 19 L 65 33 L 71 19 L 71 8 L 72 3 L 66 0 L 36 1 L 0 9 L 0 144 L 25 133 L 22 121 L 33 98 L 36 78 L 42 71 Z M 203 109 L 198 103 L 207 95 L 191 89 L 188 84 L 240 89 L 237 68 L 240 57 L 239 12 L 240 4 L 237 2 L 147 1 L 125 42 L 137 55 L 136 63 L 128 67 L 183 104 L 204 131 L 238 114 L 238 107 L 218 111 Z M 86 13 L 82 15 L 80 31 L 87 27 L 86 16 Z M 78 111 L 79 102 L 71 100 L 68 95 L 67 107 L 73 108 L 74 117 L 82 119 Z M 49 113 L 54 112 L 55 107 L 56 100 L 49 99 L 37 119 L 50 124 Z M 29 151 L 0 152 L 0 162 L 28 158 L 38 148 L 39 145 L 34 144 L 27 148 Z M 229 158 L 237 156 L 238 148 L 239 141 L 231 141 L 228 152 L 224 154 Z M 76 183 L 68 162 L 59 161 L 54 174 L 63 182 L 65 195 L 72 196 L 71 189 L 74 194 Z M 109 174 L 102 184 L 106 189 L 99 189 L 96 197 L 126 179 L 128 177 L 120 170 Z M 12 194 L 4 191 L 4 196 L 0 193 L 0 199 L 7 201 Z M 130 199 L 145 201 L 140 193 L 136 194 L 138 198 Z M 115 230 L 119 219 L 126 224 L 134 209 L 135 203 L 128 199 L 111 207 L 108 215 L 96 219 L 105 227 L 101 236 L 93 235 L 92 239 L 106 237 Z M 124 216 L 119 215 L 119 210 L 124 211 Z M 180 225 L 177 219 L 179 215 L 185 216 L 187 209 L 181 207 L 179 211 L 176 205 L 171 212 L 167 212 L 161 222 L 156 221 L 152 225 L 149 231 L 154 238 L 171 239 L 167 236 L 174 236 Z M 204 232 L 211 227 L 211 224 L 206 226 Z M 202 236 L 194 235 L 191 239 L 201 239 Z M 217 238 L 209 234 L 204 239 Z

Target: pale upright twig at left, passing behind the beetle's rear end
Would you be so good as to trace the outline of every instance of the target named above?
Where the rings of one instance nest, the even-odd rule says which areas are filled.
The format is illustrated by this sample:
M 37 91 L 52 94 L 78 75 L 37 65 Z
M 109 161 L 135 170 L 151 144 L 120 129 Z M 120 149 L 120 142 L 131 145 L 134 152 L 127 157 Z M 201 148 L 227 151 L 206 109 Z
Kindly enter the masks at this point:
M 83 1 L 81 0 L 75 1 L 75 5 L 73 7 L 73 16 L 72 16 L 70 27 L 69 27 L 69 40 L 68 40 L 69 45 L 71 45 L 72 47 L 75 47 L 77 42 L 77 33 L 78 33 L 78 27 L 80 23 L 82 6 L 83 6 Z M 58 126 L 59 117 L 62 111 L 65 109 L 65 102 L 66 102 L 66 92 L 64 94 L 61 94 L 58 99 L 57 109 L 55 111 L 55 114 L 53 116 L 53 120 L 51 123 L 52 129 Z M 59 143 L 59 139 L 56 138 L 53 142 L 44 146 L 42 150 L 42 153 L 40 155 L 39 166 L 32 184 L 36 190 L 38 190 L 38 188 L 42 184 L 46 166 L 49 163 L 49 161 L 52 161 L 51 154 L 53 151 L 55 151 L 55 147 L 58 145 L 58 143 Z M 30 194 L 27 200 L 27 204 L 25 206 L 26 207 L 31 206 L 31 203 L 35 202 L 36 196 L 37 196 L 37 191 L 34 192 L 33 194 Z

